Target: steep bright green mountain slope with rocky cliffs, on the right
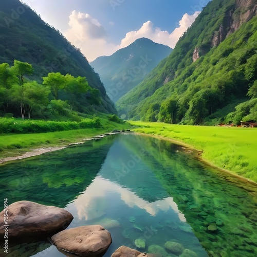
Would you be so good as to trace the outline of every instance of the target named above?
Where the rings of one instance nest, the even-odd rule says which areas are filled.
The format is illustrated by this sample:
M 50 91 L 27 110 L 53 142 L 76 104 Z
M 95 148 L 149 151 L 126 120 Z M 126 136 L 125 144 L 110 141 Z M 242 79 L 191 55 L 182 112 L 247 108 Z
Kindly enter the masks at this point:
M 117 102 L 119 113 L 187 124 L 256 120 L 253 100 L 231 113 L 256 97 L 256 9 L 254 0 L 210 2 L 170 56 Z

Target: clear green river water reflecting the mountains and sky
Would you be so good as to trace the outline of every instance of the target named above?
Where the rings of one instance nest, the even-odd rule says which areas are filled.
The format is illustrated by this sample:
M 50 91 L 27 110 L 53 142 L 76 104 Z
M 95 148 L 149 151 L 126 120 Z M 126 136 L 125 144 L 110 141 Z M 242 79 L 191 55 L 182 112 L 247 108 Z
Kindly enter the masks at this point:
M 0 195 L 65 208 L 69 228 L 102 225 L 113 238 L 107 257 L 137 239 L 159 256 L 257 256 L 256 185 L 196 156 L 158 138 L 107 136 L 0 166 Z M 3 256 L 64 255 L 49 242 L 9 242 Z

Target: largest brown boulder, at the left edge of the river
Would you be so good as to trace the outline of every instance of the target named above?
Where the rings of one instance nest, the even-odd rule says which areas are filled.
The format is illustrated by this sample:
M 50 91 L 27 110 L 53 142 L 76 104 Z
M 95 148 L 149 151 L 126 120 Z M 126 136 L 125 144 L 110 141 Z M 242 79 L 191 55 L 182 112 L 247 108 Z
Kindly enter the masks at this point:
M 68 227 L 74 217 L 66 210 L 17 201 L 8 206 L 8 238 L 44 236 Z M 4 210 L 0 213 L 0 238 L 3 238 Z

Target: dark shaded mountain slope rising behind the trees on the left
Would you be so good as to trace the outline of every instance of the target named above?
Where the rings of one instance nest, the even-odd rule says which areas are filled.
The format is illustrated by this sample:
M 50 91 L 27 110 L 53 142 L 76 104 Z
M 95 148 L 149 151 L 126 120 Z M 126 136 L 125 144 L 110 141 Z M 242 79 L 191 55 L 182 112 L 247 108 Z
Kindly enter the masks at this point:
M 12 65 L 15 59 L 32 64 L 29 79 L 42 80 L 49 72 L 86 77 L 101 95 L 101 103 L 88 103 L 88 108 L 116 113 L 98 74 L 79 49 L 19 0 L 0 0 L 0 63 Z

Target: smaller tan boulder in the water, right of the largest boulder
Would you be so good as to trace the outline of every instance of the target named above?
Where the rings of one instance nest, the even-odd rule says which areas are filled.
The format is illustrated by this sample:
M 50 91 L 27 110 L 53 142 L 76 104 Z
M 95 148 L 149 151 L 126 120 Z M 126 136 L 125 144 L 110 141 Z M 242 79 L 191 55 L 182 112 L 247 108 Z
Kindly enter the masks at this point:
M 51 237 L 60 251 L 78 256 L 103 256 L 112 244 L 111 234 L 102 226 L 70 228 Z

